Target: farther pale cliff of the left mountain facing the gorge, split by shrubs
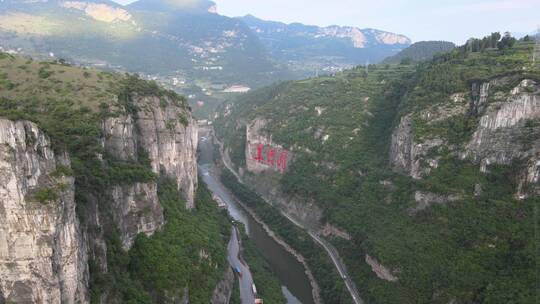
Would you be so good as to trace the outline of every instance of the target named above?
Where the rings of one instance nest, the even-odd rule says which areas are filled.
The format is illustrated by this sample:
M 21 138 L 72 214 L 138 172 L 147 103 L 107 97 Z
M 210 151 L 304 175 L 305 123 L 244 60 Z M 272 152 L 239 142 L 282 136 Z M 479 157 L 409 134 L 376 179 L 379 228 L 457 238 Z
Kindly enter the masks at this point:
M 136 104 L 136 113 L 123 113 L 104 121 L 106 150 L 121 160 L 147 156 L 154 173 L 174 178 L 185 194 L 186 207 L 193 208 L 197 188 L 195 122 L 170 100 L 141 97 Z M 137 234 L 151 235 L 163 226 L 155 182 L 115 186 L 112 197 L 113 216 L 125 249 L 131 247 Z

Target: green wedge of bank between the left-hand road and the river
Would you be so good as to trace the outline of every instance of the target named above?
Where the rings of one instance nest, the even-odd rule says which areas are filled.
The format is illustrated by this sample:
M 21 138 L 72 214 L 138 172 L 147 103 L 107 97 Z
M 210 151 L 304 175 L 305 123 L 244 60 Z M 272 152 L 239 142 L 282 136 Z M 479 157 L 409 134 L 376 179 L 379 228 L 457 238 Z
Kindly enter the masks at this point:
M 242 238 L 242 257 L 249 265 L 253 281 L 257 286 L 257 294 L 267 303 L 287 303 L 281 292 L 281 284 L 272 268 L 246 235 L 245 229 L 241 228 L 239 231 Z

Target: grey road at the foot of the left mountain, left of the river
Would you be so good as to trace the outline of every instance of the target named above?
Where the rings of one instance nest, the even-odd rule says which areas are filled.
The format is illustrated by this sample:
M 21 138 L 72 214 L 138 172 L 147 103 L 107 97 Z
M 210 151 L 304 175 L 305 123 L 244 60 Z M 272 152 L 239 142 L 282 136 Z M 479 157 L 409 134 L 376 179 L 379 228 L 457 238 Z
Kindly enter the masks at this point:
M 231 231 L 231 239 L 227 249 L 229 251 L 229 264 L 231 264 L 233 269 L 238 267 L 242 272 L 242 276 L 240 276 L 238 279 L 240 283 L 240 299 L 242 300 L 242 304 L 253 304 L 255 303 L 255 297 L 253 296 L 253 291 L 251 289 L 253 278 L 251 277 L 249 267 L 244 265 L 244 263 L 242 263 L 239 259 L 240 244 L 238 241 L 238 230 L 236 227 L 233 227 Z

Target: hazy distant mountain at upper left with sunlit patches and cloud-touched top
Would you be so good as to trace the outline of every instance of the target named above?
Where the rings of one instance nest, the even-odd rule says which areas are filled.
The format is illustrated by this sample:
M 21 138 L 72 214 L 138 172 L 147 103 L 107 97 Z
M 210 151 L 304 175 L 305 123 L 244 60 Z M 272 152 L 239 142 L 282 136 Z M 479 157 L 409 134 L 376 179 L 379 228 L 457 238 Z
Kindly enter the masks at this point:
M 0 2 L 0 47 L 138 73 L 191 96 L 201 116 L 229 95 L 223 91 L 230 86 L 292 78 L 243 22 L 216 14 L 213 3 L 202 0 L 145 0 L 129 6 L 6 0 Z M 204 102 L 202 109 L 197 101 Z

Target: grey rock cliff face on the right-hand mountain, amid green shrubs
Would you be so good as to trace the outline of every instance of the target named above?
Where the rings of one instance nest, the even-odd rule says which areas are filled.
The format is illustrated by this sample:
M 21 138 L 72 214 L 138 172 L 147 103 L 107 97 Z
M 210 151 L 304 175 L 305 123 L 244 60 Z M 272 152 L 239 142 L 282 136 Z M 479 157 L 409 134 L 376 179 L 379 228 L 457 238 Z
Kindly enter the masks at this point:
M 540 150 L 540 138 L 534 126 L 540 119 L 540 86 L 531 79 L 524 79 L 510 91 L 501 91 L 500 87 L 510 81 L 503 77 L 474 84 L 470 94 L 454 94 L 449 98 L 452 100 L 451 108 L 439 105 L 436 109 L 419 113 L 420 119 L 427 121 L 428 126 L 457 115 L 477 117 L 478 126 L 463 147 L 447 145 L 444 138 L 437 136 L 415 138 L 415 113 L 402 117 L 392 135 L 391 165 L 413 178 L 422 178 L 438 165 L 438 159 L 428 157 L 428 152 L 445 146 L 461 159 L 478 163 L 482 172 L 488 171 L 493 164 L 510 165 L 516 160 L 524 161 L 526 165 L 517 196 L 525 198 L 527 195 L 523 191 L 527 188 L 532 187 L 535 191 L 538 188 L 534 184 L 537 184 L 539 175 L 537 151 Z M 467 95 L 470 100 L 464 103 Z

